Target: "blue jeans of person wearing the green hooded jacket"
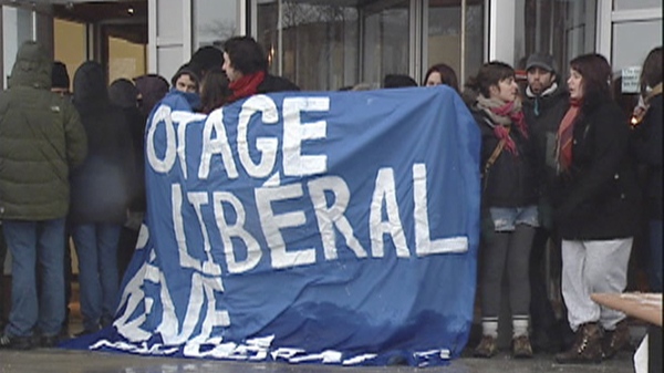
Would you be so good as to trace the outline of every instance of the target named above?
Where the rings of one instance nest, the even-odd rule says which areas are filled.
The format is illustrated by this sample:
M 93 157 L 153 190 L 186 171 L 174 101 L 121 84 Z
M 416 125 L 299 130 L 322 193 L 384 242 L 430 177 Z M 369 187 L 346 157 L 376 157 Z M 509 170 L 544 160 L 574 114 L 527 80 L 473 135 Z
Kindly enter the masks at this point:
M 56 335 L 64 320 L 64 219 L 42 221 L 4 220 L 4 239 L 11 252 L 11 311 L 6 333 Z M 42 271 L 37 299 L 35 267 Z

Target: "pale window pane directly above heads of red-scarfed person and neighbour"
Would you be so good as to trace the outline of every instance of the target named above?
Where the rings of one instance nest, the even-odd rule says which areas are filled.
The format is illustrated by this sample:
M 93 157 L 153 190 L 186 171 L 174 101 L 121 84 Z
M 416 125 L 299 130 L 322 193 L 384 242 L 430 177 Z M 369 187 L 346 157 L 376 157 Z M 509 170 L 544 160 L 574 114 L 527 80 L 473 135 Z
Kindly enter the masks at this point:
M 221 46 L 238 34 L 238 1 L 194 1 L 194 50 L 205 45 Z

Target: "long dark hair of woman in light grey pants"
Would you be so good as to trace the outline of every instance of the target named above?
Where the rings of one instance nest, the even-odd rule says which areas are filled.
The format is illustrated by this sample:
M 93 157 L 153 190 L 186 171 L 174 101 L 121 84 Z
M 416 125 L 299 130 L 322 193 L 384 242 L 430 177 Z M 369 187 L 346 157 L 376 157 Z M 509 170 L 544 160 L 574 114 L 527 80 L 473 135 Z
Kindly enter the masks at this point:
M 579 55 L 570 61 L 570 68 L 582 76 L 584 108 L 611 100 L 611 65 L 603 55 L 598 53 Z

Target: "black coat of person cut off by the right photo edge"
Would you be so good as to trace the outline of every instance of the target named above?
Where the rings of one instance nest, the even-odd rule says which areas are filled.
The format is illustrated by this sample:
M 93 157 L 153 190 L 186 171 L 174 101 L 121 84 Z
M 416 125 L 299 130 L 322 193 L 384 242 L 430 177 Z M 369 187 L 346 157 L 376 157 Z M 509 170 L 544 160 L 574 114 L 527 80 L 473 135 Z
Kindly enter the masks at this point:
M 662 127 L 664 118 L 662 106 L 664 99 L 658 94 L 651 99 L 651 105 L 643 122 L 636 127 L 632 142 L 633 154 L 639 163 L 647 167 L 647 184 L 645 187 L 645 205 L 649 217 L 653 220 L 662 220 Z

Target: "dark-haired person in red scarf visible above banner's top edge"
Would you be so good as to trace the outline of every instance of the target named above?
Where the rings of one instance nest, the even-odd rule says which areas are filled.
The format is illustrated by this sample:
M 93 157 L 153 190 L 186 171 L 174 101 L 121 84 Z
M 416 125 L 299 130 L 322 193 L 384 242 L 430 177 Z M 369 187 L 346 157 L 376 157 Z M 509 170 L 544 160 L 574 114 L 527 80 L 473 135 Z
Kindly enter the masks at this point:
M 268 74 L 268 58 L 251 37 L 234 37 L 224 43 L 224 65 L 232 91 L 228 103 L 257 93 L 300 91 L 289 80 Z

